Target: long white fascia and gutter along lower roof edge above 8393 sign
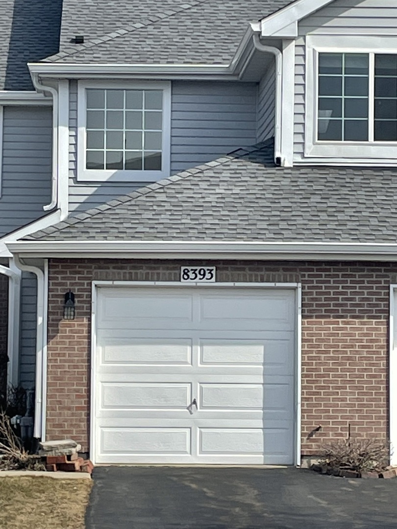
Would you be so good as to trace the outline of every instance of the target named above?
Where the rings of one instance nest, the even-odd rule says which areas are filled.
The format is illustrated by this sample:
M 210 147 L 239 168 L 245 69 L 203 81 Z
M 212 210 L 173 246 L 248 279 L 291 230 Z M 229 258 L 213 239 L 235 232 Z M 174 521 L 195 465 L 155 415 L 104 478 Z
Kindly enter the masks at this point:
M 215 241 L 17 241 L 20 257 L 397 261 L 397 243 Z

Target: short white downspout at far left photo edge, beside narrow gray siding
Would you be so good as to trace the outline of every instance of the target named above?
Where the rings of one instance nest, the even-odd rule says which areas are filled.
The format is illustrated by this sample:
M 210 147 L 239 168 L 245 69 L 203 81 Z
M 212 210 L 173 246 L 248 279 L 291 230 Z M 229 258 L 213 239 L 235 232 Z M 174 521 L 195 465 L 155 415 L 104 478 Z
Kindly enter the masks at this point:
M 11 268 L 0 265 L 0 274 L 8 277 L 8 331 L 7 350 L 10 362 L 7 369 L 7 383 L 18 384 L 19 366 L 19 327 L 21 275 Z

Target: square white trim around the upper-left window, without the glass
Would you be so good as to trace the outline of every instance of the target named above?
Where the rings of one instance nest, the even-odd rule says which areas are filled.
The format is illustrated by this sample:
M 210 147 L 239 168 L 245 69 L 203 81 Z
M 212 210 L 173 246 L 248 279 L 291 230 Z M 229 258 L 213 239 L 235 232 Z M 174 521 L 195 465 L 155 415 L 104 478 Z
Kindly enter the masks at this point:
M 120 88 L 120 89 L 158 89 L 163 90 L 163 148 L 161 171 L 131 170 L 97 170 L 86 169 L 86 89 L 87 88 Z M 171 151 L 171 83 L 160 81 L 79 81 L 77 90 L 77 180 L 86 182 L 153 182 L 167 178 L 170 174 Z

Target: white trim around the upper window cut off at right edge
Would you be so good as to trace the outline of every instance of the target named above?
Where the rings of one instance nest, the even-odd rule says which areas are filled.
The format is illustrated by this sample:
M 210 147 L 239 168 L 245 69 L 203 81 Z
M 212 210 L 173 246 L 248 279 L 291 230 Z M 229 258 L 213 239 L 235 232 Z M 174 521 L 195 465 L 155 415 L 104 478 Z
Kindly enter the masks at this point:
M 372 36 L 308 35 L 306 37 L 305 149 L 309 158 L 344 160 L 397 159 L 397 142 L 324 142 L 317 140 L 318 53 L 396 53 L 397 38 Z M 371 90 L 369 93 L 371 97 Z M 369 115 L 371 119 L 371 115 Z

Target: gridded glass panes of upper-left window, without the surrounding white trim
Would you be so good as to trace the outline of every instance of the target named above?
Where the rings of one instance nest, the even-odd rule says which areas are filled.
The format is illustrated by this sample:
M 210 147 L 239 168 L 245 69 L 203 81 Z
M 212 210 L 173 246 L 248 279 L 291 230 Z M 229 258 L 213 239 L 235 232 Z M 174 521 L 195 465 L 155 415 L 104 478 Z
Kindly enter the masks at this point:
M 163 90 L 86 90 L 86 169 L 160 171 Z

